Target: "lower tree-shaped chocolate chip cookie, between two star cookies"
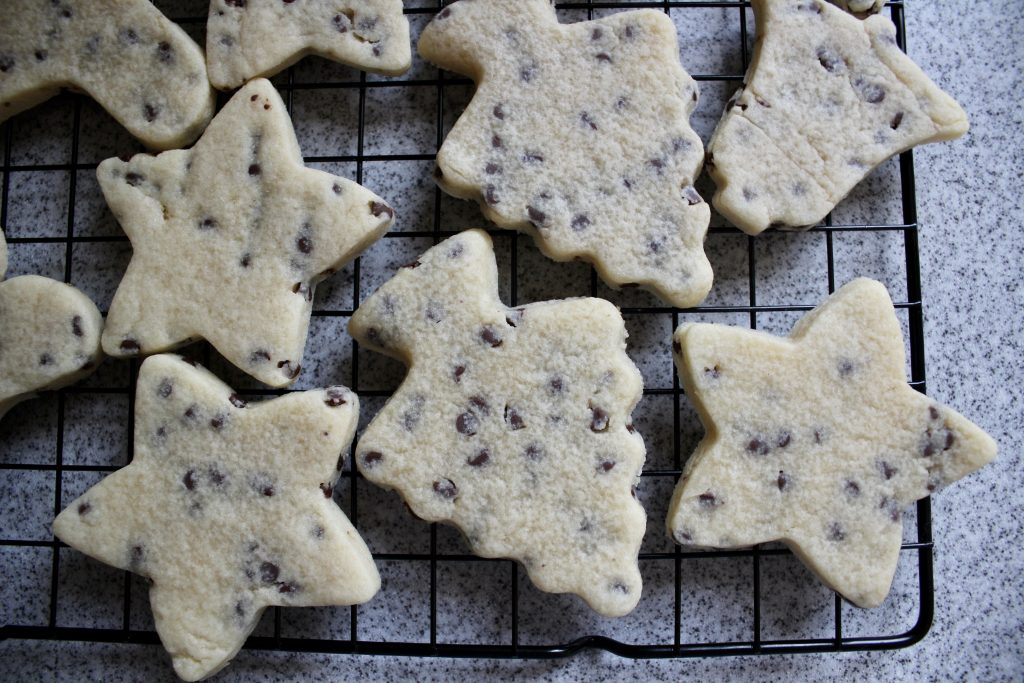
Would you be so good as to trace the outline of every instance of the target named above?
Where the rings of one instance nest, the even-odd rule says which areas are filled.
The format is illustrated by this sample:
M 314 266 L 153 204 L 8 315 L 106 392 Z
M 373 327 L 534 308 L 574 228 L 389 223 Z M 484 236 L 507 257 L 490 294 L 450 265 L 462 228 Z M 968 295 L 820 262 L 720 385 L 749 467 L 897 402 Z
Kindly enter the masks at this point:
M 471 230 L 382 286 L 349 332 L 410 366 L 359 440 L 368 479 L 474 553 L 519 560 L 541 590 L 606 615 L 637 604 L 642 383 L 614 306 L 505 307 L 490 240 Z

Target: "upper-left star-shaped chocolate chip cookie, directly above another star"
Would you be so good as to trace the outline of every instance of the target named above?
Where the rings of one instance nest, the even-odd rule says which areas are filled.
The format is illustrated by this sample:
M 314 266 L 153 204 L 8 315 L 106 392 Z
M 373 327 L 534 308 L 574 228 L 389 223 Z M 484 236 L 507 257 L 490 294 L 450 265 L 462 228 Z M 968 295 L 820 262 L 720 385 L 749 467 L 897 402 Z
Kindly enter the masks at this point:
M 134 253 L 103 348 L 151 354 L 198 338 L 259 381 L 298 377 L 313 287 L 391 224 L 356 183 L 307 169 L 268 81 L 227 102 L 190 150 L 97 170 Z

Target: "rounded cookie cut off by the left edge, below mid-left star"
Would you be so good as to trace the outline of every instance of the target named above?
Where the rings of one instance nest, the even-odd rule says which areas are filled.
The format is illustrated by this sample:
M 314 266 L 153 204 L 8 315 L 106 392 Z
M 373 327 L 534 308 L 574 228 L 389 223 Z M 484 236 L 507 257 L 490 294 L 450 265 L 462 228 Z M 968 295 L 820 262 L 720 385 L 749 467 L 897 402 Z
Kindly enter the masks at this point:
M 6 271 L 0 231 L 0 280 Z M 39 275 L 0 282 L 0 419 L 37 391 L 90 375 L 102 327 L 96 305 L 71 285 Z

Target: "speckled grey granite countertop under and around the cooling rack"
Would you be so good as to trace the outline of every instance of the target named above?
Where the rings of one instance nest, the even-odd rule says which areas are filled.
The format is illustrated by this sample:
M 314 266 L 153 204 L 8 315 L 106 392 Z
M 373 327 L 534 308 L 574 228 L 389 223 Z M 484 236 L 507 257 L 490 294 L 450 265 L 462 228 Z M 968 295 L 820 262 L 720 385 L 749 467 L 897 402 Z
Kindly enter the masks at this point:
M 158 2 L 169 14 L 201 15 L 203 0 Z M 432 6 L 421 0 L 408 6 Z M 921 223 L 921 270 L 925 301 L 928 391 L 986 429 L 999 443 L 998 460 L 936 496 L 932 503 L 935 540 L 935 620 L 925 640 L 896 651 L 764 657 L 632 660 L 586 651 L 552 661 L 443 659 L 296 654 L 243 651 L 215 680 L 1021 680 L 1024 677 L 1024 494 L 1021 452 L 1024 449 L 1024 132 L 1017 93 L 1024 73 L 1024 2 L 1021 0 L 905 0 L 909 52 L 941 87 L 956 97 L 972 122 L 959 140 L 921 147 L 914 153 Z M 597 12 L 600 13 L 600 12 Z M 735 8 L 687 7 L 673 10 L 680 29 L 684 66 L 694 74 L 739 73 Z M 585 18 L 564 12 L 563 20 Z M 414 19 L 414 34 L 423 25 Z M 751 24 L 753 26 L 753 23 Z M 201 27 L 191 33 L 202 35 Z M 401 79 L 432 78 L 435 70 L 419 60 Z M 285 78 L 284 76 L 281 78 Z M 357 80 L 357 72 L 308 59 L 294 70 L 296 82 Z M 378 77 L 371 77 L 378 80 Z M 281 82 L 279 80 L 279 82 Z M 707 83 L 694 126 L 707 141 L 731 86 Z M 351 155 L 351 129 L 358 113 L 357 91 L 297 91 L 293 101 L 296 130 L 307 156 Z M 465 105 L 471 88 L 447 88 L 442 112 L 445 128 Z M 432 154 L 437 111 L 432 86 L 371 89 L 366 101 L 366 154 Z M 15 165 L 67 163 L 71 143 L 72 100 L 58 98 L 15 119 Z M 345 122 L 349 125 L 346 126 Z M 81 111 L 81 163 L 137 151 L 123 131 L 95 104 Z M 6 136 L 0 136 L 3 139 Z M 2 152 L 2 147 L 0 147 Z M 355 164 L 313 166 L 354 177 Z M 469 204 L 435 197 L 428 178 L 429 161 L 368 162 L 362 181 L 398 209 L 394 230 L 430 229 L 434 202 L 439 201 L 445 229 L 473 226 L 481 219 Z M 835 214 L 837 222 L 863 224 L 901 218 L 898 166 L 889 162 L 871 174 Z M 76 236 L 116 236 L 120 228 L 105 210 L 92 171 L 76 175 Z M 69 211 L 66 171 L 18 171 L 11 174 L 3 224 L 12 238 L 61 237 Z M 894 190 L 894 183 L 897 189 Z M 698 185 L 710 196 L 705 178 Z M 716 217 L 716 221 L 720 221 Z M 716 222 L 713 224 L 721 224 Z M 415 257 L 429 239 L 382 240 L 361 260 L 358 273 L 345 268 L 318 288 L 317 308 L 344 308 L 355 296 L 365 298 L 394 268 Z M 748 292 L 745 238 L 713 234 L 709 255 L 716 267 L 715 289 L 708 303 L 742 304 Z M 772 234 L 756 244 L 758 301 L 817 303 L 827 294 L 824 236 Z M 590 269 L 582 264 L 552 264 L 529 243 L 496 238 L 502 270 L 502 293 L 519 302 L 591 291 Z M 510 279 L 511 250 L 516 249 L 517 288 Z M 905 300 L 905 262 L 899 233 L 838 233 L 836 281 L 870 275 Z M 122 243 L 76 243 L 72 282 L 101 308 L 110 303 L 130 257 Z M 63 279 L 63 244 L 14 244 L 10 275 L 36 272 Z M 620 305 L 644 306 L 654 299 L 644 293 L 618 294 L 598 285 L 597 293 Z M 795 313 L 759 314 L 758 325 L 785 332 Z M 746 325 L 745 313 L 689 314 L 686 319 Z M 353 358 L 345 318 L 316 318 L 310 328 L 306 365 L 299 388 L 328 383 L 351 384 Z M 905 319 L 904 319 L 905 323 Z M 672 385 L 669 351 L 672 319 L 668 315 L 627 316 L 630 352 L 648 387 Z M 401 368 L 370 353 L 357 358 L 359 389 L 391 389 Z M 211 367 L 242 391 L 257 385 L 216 356 Z M 65 464 L 120 465 L 129 435 L 120 416 L 128 410 L 123 394 L 104 387 L 125 387 L 126 365 L 108 361 L 86 386 L 96 392 L 66 396 Z M 364 400 L 362 424 L 381 405 Z M 672 401 L 648 396 L 637 411 L 637 424 L 648 444 L 648 467 L 671 468 Z M 681 441 L 684 453 L 700 436 L 692 410 L 684 401 Z M 45 464 L 54 459 L 57 398 L 44 396 L 24 403 L 0 424 L 0 463 Z M 114 419 L 111 416 L 118 416 Z M 67 471 L 61 501 L 67 503 L 97 481 L 101 473 Z M 662 533 L 671 478 L 649 477 L 640 490 L 649 530 L 645 551 L 668 550 Z M 50 539 L 55 480 L 52 471 L 0 468 L 0 538 Z M 339 487 L 343 488 L 343 487 Z M 351 492 L 339 490 L 338 502 L 351 512 Z M 367 482 L 357 488 L 356 523 L 375 552 L 426 552 L 428 527 L 407 515 L 398 499 Z M 915 535 L 915 515 L 908 514 L 904 539 Z M 442 553 L 465 552 L 457 533 L 440 528 Z M 918 574 L 912 552 L 904 552 L 894 588 L 883 607 L 858 610 L 843 605 L 845 635 L 895 634 L 916 620 Z M 693 561 L 683 582 L 681 639 L 684 642 L 745 640 L 751 637 L 750 560 Z M 423 641 L 429 637 L 429 566 L 396 560 L 379 562 L 384 590 L 359 609 L 359 638 Z M 49 615 L 51 550 L 47 547 L 0 547 L 0 623 L 46 624 Z M 62 549 L 59 558 L 57 624 L 120 628 L 123 573 Z M 671 642 L 673 634 L 671 563 L 643 567 L 645 595 L 637 610 L 622 620 L 602 620 L 565 596 L 539 593 L 513 574 L 508 563 L 441 562 L 438 566 L 437 637 L 440 642 L 503 643 L 511 634 L 510 595 L 518 582 L 520 642 L 569 640 L 602 633 L 625 642 Z M 130 625 L 151 629 L 142 582 L 130 582 Z M 762 561 L 762 638 L 828 638 L 835 630 L 833 594 L 791 556 Z M 257 635 L 271 633 L 269 618 Z M 347 609 L 287 610 L 283 634 L 293 637 L 349 637 Z M 174 680 L 168 657 L 156 646 L 96 643 L 0 642 L 0 680 Z

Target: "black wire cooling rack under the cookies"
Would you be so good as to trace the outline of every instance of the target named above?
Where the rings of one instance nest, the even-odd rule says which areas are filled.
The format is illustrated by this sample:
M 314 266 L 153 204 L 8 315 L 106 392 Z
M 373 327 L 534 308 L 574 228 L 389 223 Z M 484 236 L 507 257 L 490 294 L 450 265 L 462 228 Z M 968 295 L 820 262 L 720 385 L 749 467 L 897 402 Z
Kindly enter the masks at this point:
M 157 2 L 204 43 L 206 0 Z M 443 3 L 410 0 L 414 40 Z M 753 45 L 744 0 L 560 3 L 563 22 L 626 8 L 663 9 L 676 23 L 681 58 L 701 87 L 693 123 L 707 141 L 742 81 Z M 888 10 L 905 47 L 903 2 Z M 308 165 L 370 186 L 398 209 L 393 231 L 317 289 L 304 372 L 295 388 L 342 383 L 362 397 L 360 426 L 402 376 L 393 361 L 361 352 L 345 327 L 359 301 L 431 244 L 483 225 L 475 206 L 430 181 L 434 154 L 468 102 L 472 84 L 417 59 L 400 78 L 380 78 L 315 58 L 274 79 Z M 110 304 L 130 247 L 106 212 L 94 175 L 105 157 L 140 151 L 90 99 L 63 94 L 0 127 L 2 214 L 10 275 L 70 282 Z M 710 197 L 707 177 L 698 189 Z M 757 240 L 713 218 L 711 297 L 694 309 L 666 307 L 643 292 L 605 288 L 589 266 L 555 264 L 528 239 L 490 230 L 512 305 L 573 295 L 622 307 L 630 353 L 644 375 L 635 414 L 648 446 L 639 497 L 648 512 L 637 609 L 605 620 L 571 596 L 544 594 L 511 561 L 470 555 L 458 533 L 414 519 L 393 494 L 350 471 L 336 499 L 367 540 L 383 590 L 357 607 L 267 610 L 247 647 L 315 652 L 557 657 L 602 648 L 632 657 L 838 652 L 910 645 L 933 615 L 928 499 L 904 519 L 899 570 L 886 603 L 859 610 L 822 587 L 784 547 L 691 552 L 664 532 L 672 487 L 701 435 L 672 367 L 671 332 L 712 321 L 784 333 L 838 285 L 882 280 L 897 302 L 911 384 L 924 391 L 925 361 L 913 162 L 909 153 L 872 173 L 824 224 Z M 207 345 L 185 350 L 244 395 L 260 388 Z M 0 571 L 3 639 L 157 643 L 144 583 L 75 553 L 50 521 L 86 487 L 132 455 L 137 361 L 108 360 L 85 382 L 27 401 L 0 423 Z

